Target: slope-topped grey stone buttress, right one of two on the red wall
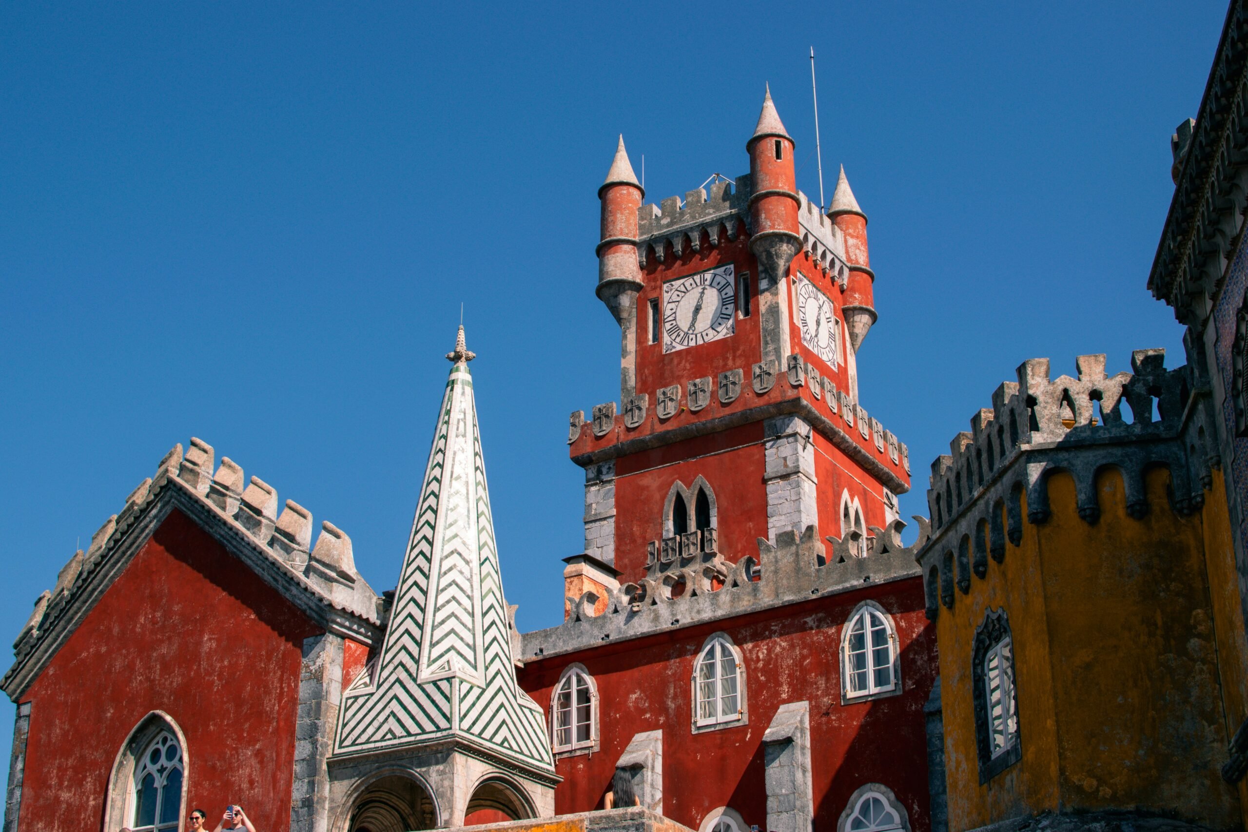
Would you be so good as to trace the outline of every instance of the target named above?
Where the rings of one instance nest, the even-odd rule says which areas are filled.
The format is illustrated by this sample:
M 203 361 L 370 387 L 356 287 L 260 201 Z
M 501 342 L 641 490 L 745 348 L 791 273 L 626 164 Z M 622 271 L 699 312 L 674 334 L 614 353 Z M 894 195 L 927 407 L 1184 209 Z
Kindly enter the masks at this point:
M 810 704 L 786 702 L 763 735 L 768 832 L 811 832 Z

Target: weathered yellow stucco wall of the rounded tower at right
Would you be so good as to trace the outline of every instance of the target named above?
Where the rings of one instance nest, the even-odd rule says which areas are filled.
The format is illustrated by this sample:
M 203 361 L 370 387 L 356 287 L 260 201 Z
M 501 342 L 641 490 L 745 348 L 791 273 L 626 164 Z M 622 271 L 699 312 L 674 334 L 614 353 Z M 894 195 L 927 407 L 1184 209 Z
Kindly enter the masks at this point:
M 990 561 L 986 579 L 972 578 L 968 594 L 955 590 L 952 610 L 941 607 L 950 830 L 1046 810 L 1242 823 L 1237 790 L 1219 776 L 1229 736 L 1219 670 L 1234 681 L 1234 725 L 1248 702 L 1224 498 L 1218 481 L 1211 508 L 1181 518 L 1168 476 L 1146 475 L 1151 510 L 1134 520 L 1121 475 L 1102 472 L 1101 518 L 1090 525 L 1076 510 L 1073 479 L 1055 474 L 1051 519 L 1023 523 L 1021 545 L 1007 543 L 1002 564 Z M 971 651 L 990 607 L 1010 619 L 1022 758 L 981 786 Z M 1216 635 L 1227 644 L 1221 667 Z

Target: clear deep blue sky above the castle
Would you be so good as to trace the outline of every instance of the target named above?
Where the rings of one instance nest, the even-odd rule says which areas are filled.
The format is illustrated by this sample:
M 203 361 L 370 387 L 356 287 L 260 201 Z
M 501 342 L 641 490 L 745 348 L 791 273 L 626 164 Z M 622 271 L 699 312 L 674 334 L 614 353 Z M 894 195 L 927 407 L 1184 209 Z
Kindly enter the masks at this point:
M 615 136 L 649 201 L 734 177 L 770 82 L 817 200 L 811 45 L 829 198 L 844 163 L 870 217 L 860 390 L 910 447 L 905 515 L 1023 359 L 1183 362 L 1144 284 L 1223 1 L 761 9 L 5 4 L 4 644 L 191 435 L 391 588 L 461 303 L 508 600 L 557 624 L 568 413 L 619 395 L 594 297 Z

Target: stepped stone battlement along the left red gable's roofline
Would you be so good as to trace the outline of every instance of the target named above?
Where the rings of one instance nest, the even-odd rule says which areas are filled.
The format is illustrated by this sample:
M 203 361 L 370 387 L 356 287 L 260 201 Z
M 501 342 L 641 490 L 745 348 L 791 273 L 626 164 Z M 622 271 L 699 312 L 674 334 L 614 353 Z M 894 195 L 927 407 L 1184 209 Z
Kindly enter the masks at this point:
M 14 665 L 0 680 L 10 690 L 15 675 L 45 641 L 64 634 L 64 619 L 81 617 L 111 579 L 132 558 L 142 541 L 173 508 L 201 519 L 212 518 L 223 529 L 210 528 L 213 536 L 246 540 L 263 565 L 276 568 L 275 580 L 293 584 L 313 604 L 341 610 L 376 627 L 382 622 L 381 599 L 356 570 L 351 538 L 329 521 L 312 544 L 312 514 L 287 500 L 277 511 L 277 491 L 257 476 L 245 486 L 243 470 L 222 458 L 213 473 L 212 445 L 192 438 L 186 453 L 178 443 L 161 459 L 156 473 L 144 479 L 126 498 L 125 506 L 104 521 L 86 551 L 74 553 L 45 590 L 14 642 Z M 233 533 L 230 535 L 228 533 Z M 136 534 L 132 534 L 136 533 Z M 341 617 L 341 616 L 338 616 Z M 346 621 L 338 622 L 349 625 Z M 368 639 L 359 630 L 357 637 Z M 25 675 L 25 674 L 24 674 Z

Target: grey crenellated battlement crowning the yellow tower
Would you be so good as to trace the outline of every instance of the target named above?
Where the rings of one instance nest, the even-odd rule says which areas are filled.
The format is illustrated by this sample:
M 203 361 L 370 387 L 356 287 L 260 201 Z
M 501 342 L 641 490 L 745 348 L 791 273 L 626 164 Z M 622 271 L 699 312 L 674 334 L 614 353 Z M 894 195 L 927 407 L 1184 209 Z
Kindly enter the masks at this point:
M 1209 390 L 1188 365 L 1166 369 L 1162 349 L 1137 349 L 1132 373 L 1106 375 L 1103 354 L 1080 356 L 1077 378 L 1051 379 L 1048 359 L 1035 358 L 1018 367 L 1017 382 L 996 389 L 992 407 L 932 462 L 932 535 L 919 555 L 929 617 L 952 606 L 955 589 L 970 591 L 990 558 L 1001 563 L 1007 540 L 1021 544 L 1025 520 L 1048 521 L 1048 479 L 1057 472 L 1073 478 L 1078 515 L 1090 524 L 1101 518 L 1097 476 L 1107 468 L 1122 475 L 1131 518 L 1156 508 L 1144 485 L 1152 468 L 1169 472 L 1172 510 L 1204 505 L 1219 465 Z

